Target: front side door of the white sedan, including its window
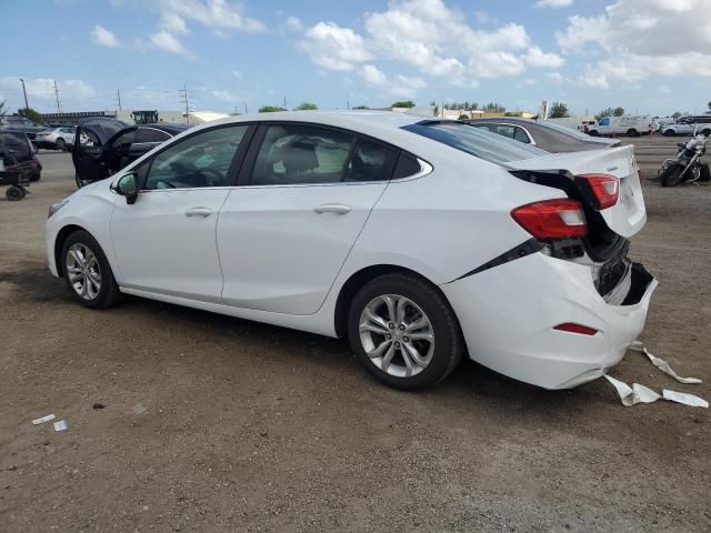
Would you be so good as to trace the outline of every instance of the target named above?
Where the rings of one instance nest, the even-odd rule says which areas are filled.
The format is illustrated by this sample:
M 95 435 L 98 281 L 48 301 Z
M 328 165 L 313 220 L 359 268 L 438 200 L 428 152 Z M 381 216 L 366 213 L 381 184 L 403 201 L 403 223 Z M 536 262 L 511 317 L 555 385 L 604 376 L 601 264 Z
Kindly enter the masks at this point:
M 248 125 L 203 130 L 139 165 L 136 203 L 114 202 L 113 250 L 129 289 L 191 300 L 220 301 L 222 272 L 216 245 L 218 213 L 227 199 Z

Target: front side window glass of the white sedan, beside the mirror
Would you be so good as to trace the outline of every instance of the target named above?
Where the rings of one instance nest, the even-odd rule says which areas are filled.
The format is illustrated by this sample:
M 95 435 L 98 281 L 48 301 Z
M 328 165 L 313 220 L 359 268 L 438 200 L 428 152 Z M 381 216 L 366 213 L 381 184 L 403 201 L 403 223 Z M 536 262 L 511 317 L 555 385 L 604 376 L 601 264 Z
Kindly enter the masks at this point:
M 232 158 L 248 128 L 216 128 L 172 144 L 153 158 L 143 190 L 230 185 Z

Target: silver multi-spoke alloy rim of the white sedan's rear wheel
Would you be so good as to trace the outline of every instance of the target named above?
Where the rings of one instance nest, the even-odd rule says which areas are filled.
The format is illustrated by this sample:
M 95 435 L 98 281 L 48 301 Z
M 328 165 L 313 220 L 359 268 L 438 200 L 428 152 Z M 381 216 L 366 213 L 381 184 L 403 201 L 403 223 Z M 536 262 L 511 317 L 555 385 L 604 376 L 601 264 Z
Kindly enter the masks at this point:
M 389 375 L 410 378 L 432 361 L 432 322 L 405 296 L 382 294 L 373 298 L 363 308 L 358 331 L 372 364 Z

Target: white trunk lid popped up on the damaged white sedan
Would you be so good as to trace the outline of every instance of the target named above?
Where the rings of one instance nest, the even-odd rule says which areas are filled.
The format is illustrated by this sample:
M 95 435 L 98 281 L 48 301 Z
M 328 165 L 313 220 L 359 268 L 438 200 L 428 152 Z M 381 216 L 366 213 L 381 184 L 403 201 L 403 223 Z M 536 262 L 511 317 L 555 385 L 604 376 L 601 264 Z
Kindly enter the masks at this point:
M 590 173 L 614 175 L 620 180 L 618 202 L 599 211 L 610 230 L 630 238 L 647 222 L 647 209 L 642 197 L 634 148 L 631 145 L 589 150 L 585 152 L 553 153 L 540 158 L 507 163 L 512 170 L 567 171 L 572 177 Z

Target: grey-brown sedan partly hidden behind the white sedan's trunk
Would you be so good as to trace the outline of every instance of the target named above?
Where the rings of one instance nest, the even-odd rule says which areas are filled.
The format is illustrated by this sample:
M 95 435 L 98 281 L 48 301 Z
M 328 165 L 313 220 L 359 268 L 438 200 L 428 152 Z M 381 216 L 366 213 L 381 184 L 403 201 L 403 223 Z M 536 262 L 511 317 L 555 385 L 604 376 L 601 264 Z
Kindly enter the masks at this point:
M 468 122 L 474 128 L 482 128 L 492 133 L 553 153 L 599 150 L 620 145 L 618 140 L 590 137 L 578 130 L 551 124 L 547 121 L 505 117 L 501 119 L 478 119 Z

